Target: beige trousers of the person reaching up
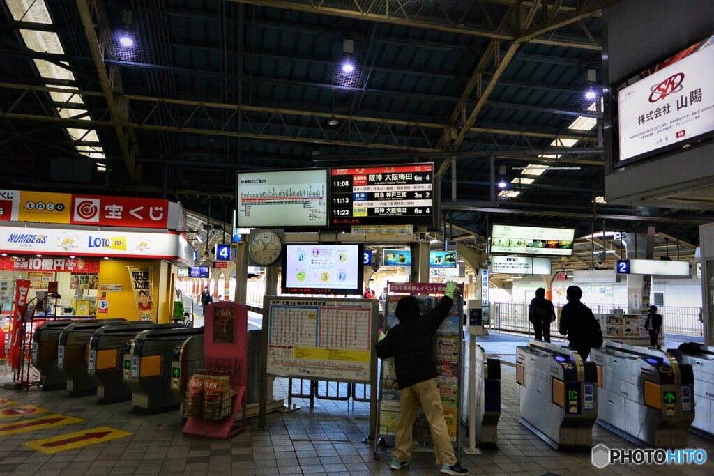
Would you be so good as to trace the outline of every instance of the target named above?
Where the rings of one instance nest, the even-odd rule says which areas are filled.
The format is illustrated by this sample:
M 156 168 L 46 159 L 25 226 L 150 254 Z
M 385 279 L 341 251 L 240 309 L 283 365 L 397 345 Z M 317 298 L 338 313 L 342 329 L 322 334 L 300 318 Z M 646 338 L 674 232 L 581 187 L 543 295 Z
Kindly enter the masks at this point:
M 448 439 L 441 397 L 436 388 L 436 378 L 424 380 L 399 391 L 401 415 L 397 423 L 396 444 L 392 450 L 392 457 L 402 461 L 409 461 L 411 457 L 412 428 L 418 402 L 421 402 L 424 415 L 429 422 L 436 463 L 441 465 L 446 462 L 448 465 L 453 465 L 456 462 L 456 455 Z

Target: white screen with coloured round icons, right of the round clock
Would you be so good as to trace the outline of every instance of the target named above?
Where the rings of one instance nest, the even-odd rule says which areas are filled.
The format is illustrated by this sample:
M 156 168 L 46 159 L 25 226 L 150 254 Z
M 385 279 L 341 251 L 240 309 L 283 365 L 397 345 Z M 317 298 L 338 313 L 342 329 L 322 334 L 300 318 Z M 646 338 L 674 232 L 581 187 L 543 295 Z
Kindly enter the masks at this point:
M 285 245 L 283 293 L 362 294 L 362 252 L 362 245 Z

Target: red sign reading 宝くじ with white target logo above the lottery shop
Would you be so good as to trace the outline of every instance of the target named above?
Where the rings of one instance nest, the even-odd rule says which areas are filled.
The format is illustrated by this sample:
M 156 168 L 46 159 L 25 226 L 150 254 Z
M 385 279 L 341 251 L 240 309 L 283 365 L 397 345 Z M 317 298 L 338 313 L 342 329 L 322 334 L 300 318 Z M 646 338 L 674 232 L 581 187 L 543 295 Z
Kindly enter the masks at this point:
M 167 228 L 169 201 L 161 198 L 72 195 L 69 221 L 74 225 Z

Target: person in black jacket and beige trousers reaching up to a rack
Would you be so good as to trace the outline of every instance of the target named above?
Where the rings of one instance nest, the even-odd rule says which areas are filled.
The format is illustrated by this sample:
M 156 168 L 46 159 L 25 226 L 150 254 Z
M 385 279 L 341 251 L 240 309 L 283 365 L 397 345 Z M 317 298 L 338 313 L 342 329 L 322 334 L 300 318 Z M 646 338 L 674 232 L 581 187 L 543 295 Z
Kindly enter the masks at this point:
M 394 358 L 394 369 L 399 387 L 401 415 L 396 428 L 396 443 L 392 451 L 393 470 L 409 465 L 411 457 L 412 428 L 416 418 L 417 403 L 421 402 L 431 429 L 436 462 L 441 464 L 441 474 L 467 475 L 451 447 L 446 420 L 444 420 L 441 396 L 436 387 L 436 357 L 433 338 L 441 322 L 446 318 L 456 283 L 446 283 L 446 292 L 436 308 L 421 314 L 419 301 L 414 296 L 405 296 L 397 303 L 394 313 L 399 323 L 383 334 L 376 345 L 377 357 Z

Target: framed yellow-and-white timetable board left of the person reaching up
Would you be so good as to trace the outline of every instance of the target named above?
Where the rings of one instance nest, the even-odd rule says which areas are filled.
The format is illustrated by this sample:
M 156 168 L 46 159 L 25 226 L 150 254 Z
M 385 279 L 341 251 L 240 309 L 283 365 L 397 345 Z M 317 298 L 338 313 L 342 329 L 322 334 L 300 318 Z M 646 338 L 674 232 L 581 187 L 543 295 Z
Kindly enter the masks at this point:
M 266 373 L 372 383 L 377 315 L 373 300 L 266 297 Z

